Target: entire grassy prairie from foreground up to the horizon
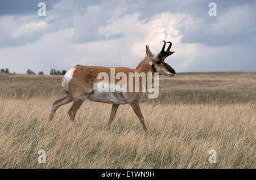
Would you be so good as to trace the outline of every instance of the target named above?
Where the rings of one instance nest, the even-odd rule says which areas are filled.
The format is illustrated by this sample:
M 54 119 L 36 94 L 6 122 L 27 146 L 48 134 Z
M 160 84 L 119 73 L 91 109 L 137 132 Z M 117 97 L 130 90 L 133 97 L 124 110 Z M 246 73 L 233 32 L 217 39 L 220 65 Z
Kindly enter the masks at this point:
M 48 122 L 62 78 L 0 74 L 0 168 L 256 168 L 256 72 L 160 77 L 159 97 L 141 101 L 147 133 L 129 105 L 106 130 L 111 105 L 88 100 L 75 122 L 71 103 Z

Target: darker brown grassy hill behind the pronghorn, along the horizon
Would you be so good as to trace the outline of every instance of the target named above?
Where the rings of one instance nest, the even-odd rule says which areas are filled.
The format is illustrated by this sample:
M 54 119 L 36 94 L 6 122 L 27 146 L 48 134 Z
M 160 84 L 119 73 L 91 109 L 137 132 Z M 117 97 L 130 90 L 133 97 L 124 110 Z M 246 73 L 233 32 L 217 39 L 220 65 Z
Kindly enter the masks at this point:
M 61 75 L 0 74 L 2 97 L 49 97 L 64 95 Z M 143 101 L 146 100 L 144 96 Z M 246 103 L 256 101 L 256 72 L 189 72 L 174 78 L 160 76 L 162 103 Z

